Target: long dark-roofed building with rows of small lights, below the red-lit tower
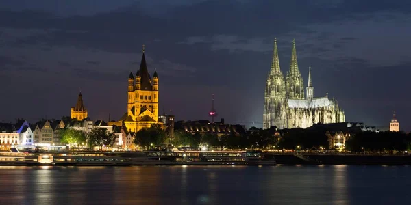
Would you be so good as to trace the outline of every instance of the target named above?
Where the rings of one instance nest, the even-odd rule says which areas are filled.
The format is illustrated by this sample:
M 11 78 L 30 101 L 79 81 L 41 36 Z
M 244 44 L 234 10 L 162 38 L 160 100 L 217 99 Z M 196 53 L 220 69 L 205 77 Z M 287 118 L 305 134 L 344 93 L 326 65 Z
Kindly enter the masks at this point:
M 224 119 L 221 122 L 210 123 L 208 120 L 198 121 L 178 121 L 175 122 L 174 129 L 180 131 L 186 131 L 189 133 L 211 133 L 218 136 L 221 135 L 243 135 L 246 133 L 245 126 L 240 124 L 223 124 Z

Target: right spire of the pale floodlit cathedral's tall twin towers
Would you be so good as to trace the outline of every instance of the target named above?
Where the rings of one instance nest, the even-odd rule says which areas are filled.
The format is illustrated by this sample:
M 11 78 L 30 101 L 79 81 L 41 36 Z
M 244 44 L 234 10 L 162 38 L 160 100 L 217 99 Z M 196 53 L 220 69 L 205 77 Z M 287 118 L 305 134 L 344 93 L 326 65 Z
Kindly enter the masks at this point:
M 292 53 L 290 61 L 290 71 L 286 76 L 286 94 L 289 99 L 304 99 L 303 77 L 298 70 L 297 51 L 295 40 L 292 40 Z

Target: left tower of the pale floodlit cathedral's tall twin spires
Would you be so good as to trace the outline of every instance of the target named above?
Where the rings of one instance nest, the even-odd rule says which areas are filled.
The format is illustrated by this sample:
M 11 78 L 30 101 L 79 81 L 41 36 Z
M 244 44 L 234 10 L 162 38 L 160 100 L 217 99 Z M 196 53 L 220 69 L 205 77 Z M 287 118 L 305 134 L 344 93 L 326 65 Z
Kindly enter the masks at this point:
M 282 105 L 286 98 L 286 84 L 279 66 L 277 39 L 274 39 L 273 60 L 264 95 L 263 128 L 282 127 Z

